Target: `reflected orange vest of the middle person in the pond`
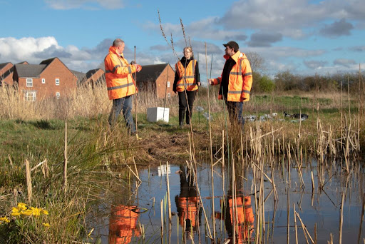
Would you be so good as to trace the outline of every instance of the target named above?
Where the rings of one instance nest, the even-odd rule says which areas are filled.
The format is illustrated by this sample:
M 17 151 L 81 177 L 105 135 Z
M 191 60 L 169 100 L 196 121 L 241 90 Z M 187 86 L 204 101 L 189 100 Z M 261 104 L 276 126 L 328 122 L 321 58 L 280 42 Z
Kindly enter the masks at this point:
M 191 227 L 197 225 L 197 206 L 199 198 L 195 197 L 180 197 L 178 198 L 179 223 L 184 226 L 185 220 L 190 220 Z

